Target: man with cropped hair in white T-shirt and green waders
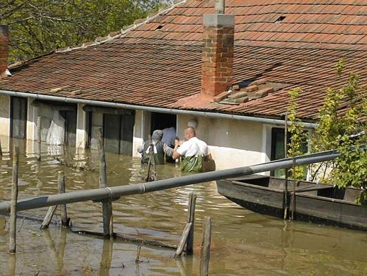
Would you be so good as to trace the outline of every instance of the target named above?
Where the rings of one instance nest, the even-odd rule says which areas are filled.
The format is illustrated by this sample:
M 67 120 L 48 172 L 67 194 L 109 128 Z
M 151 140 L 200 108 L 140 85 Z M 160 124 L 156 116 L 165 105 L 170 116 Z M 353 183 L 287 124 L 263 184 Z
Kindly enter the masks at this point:
M 191 126 L 185 128 L 184 136 L 186 141 L 180 146 L 176 141 L 172 157 L 174 159 L 182 157 L 182 172 L 204 172 L 204 161 L 211 161 L 207 143 L 196 137 L 195 129 Z

